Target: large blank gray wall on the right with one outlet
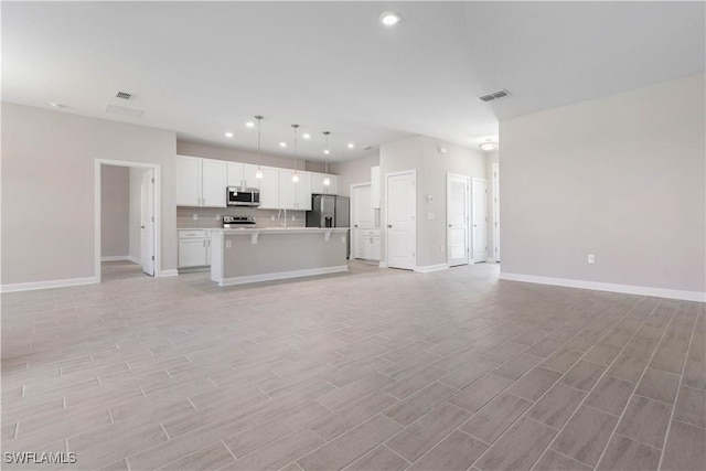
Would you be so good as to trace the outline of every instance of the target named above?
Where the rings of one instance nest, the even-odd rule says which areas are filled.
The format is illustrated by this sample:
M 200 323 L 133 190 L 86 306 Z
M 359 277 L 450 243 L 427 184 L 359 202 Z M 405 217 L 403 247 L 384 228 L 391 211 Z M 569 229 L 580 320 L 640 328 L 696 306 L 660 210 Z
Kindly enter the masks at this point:
M 502 121 L 502 271 L 704 292 L 705 85 Z

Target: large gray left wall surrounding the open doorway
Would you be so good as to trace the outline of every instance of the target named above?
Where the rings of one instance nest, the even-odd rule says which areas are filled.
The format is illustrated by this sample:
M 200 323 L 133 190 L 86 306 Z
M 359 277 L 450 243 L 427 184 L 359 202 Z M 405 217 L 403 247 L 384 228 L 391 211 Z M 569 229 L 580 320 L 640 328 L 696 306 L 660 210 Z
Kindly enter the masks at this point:
M 172 131 L 2 104 L 2 283 L 94 277 L 94 161 L 162 170 L 162 269 L 176 268 Z

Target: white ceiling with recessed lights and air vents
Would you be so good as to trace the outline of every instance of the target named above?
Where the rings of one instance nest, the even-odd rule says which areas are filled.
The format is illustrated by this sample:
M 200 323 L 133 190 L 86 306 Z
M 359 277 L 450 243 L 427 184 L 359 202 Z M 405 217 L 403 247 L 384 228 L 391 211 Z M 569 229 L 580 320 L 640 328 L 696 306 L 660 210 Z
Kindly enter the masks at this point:
M 402 22 L 383 26 L 384 10 Z M 2 99 L 248 149 L 244 122 L 261 114 L 265 151 L 298 122 L 310 159 L 323 130 L 332 160 L 415 133 L 477 147 L 499 119 L 704 72 L 705 14 L 672 1 L 3 1 Z M 501 88 L 512 95 L 478 99 Z

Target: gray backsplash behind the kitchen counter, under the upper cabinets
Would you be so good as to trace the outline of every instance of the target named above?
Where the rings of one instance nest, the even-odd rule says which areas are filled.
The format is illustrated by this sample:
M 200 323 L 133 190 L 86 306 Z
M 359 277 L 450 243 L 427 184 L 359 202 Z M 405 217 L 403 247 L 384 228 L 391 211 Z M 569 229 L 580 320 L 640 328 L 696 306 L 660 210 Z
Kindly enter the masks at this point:
M 176 227 L 182 229 L 220 228 L 223 227 L 223 216 L 255 216 L 257 227 L 281 227 L 285 212 L 277 217 L 279 210 L 258 210 L 256 207 L 191 207 L 176 206 Z M 196 220 L 194 220 L 194 214 Z M 272 216 L 275 221 L 272 221 Z M 292 216 L 295 221 L 292 221 Z M 306 227 L 306 211 L 287 211 L 287 227 Z

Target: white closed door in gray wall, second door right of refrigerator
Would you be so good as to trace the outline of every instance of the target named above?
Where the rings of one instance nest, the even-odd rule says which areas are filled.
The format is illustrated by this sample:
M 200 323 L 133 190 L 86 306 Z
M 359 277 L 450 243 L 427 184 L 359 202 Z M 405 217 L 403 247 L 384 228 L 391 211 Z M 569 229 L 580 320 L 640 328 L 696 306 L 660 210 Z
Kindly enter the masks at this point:
M 387 266 L 417 266 L 417 189 L 415 172 L 388 174 L 385 185 Z

